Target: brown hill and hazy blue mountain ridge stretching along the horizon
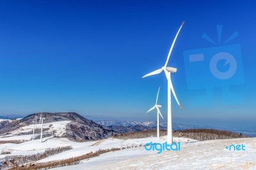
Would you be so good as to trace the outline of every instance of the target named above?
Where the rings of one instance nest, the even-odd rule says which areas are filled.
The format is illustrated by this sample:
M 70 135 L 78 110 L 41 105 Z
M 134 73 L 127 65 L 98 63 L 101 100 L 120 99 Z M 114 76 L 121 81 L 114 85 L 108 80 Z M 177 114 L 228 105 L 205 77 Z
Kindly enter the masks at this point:
M 20 118 L 20 115 L 12 114 L 0 117 L 0 135 L 31 125 L 36 114 L 29 114 L 25 118 Z M 40 117 L 40 114 L 37 115 Z M 13 119 L 18 117 L 19 119 Z M 66 125 L 66 131 L 63 136 L 72 141 L 90 141 L 95 139 L 107 138 L 114 134 L 136 132 L 141 130 L 155 129 L 156 121 L 127 121 L 127 120 L 89 120 L 76 112 L 43 112 L 42 117 L 45 118 L 44 123 L 51 123 L 54 121 L 70 121 Z M 4 120 L 7 118 L 9 120 Z M 3 120 L 1 120 L 3 119 Z M 167 122 L 160 122 L 161 129 L 166 129 Z M 236 133 L 250 135 L 256 137 L 255 131 L 250 130 L 232 130 L 227 128 L 205 127 L 199 125 L 184 125 L 173 123 L 173 130 L 184 130 L 189 128 L 212 128 L 216 130 L 228 130 Z

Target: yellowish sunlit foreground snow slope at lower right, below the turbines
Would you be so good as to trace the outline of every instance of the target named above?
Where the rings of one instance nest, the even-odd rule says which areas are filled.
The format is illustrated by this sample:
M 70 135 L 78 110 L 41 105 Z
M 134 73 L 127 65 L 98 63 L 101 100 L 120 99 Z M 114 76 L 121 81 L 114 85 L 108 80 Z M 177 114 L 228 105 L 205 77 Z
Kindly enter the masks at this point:
M 152 139 L 149 139 L 152 140 Z M 147 141 L 147 140 L 146 140 Z M 127 141 L 134 143 L 134 141 Z M 245 150 L 227 150 L 230 144 L 244 144 Z M 55 169 L 255 169 L 256 138 L 212 140 L 186 144 L 180 151 L 139 149 L 104 153 L 75 166 Z

